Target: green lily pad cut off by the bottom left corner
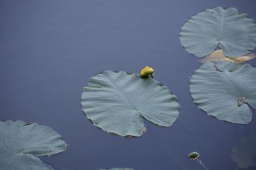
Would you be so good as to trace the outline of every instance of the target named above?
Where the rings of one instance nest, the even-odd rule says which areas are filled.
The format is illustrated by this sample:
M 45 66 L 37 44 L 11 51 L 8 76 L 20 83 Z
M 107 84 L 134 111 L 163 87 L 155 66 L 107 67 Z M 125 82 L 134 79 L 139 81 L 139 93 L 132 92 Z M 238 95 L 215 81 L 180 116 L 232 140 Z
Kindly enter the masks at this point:
M 66 150 L 65 141 L 51 128 L 26 122 L 0 122 L 0 169 L 49 170 L 37 156 Z

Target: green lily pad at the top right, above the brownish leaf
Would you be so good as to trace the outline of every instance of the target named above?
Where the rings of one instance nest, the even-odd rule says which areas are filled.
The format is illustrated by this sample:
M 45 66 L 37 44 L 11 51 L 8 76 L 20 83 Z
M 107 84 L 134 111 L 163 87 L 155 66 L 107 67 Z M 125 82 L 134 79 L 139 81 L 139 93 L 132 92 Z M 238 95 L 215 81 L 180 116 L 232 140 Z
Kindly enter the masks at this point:
M 180 42 L 197 57 L 220 46 L 228 57 L 246 55 L 256 47 L 256 24 L 236 8 L 208 9 L 191 17 L 180 31 Z

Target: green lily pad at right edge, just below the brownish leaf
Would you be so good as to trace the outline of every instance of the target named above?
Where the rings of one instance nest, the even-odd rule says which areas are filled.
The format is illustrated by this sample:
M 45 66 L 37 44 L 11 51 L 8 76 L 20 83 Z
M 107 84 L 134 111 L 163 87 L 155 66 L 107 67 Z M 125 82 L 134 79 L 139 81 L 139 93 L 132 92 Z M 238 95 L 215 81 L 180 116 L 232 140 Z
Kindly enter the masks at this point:
M 237 124 L 252 120 L 256 108 L 256 68 L 233 62 L 207 62 L 191 78 L 191 95 L 208 115 Z

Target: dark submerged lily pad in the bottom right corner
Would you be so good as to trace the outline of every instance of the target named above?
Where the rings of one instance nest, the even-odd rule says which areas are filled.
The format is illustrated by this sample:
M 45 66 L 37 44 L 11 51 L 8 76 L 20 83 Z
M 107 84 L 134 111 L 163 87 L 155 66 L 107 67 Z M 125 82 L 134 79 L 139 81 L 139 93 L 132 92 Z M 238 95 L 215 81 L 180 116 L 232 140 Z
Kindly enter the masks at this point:
M 232 148 L 232 159 L 239 168 L 256 166 L 256 134 L 242 141 L 241 144 Z

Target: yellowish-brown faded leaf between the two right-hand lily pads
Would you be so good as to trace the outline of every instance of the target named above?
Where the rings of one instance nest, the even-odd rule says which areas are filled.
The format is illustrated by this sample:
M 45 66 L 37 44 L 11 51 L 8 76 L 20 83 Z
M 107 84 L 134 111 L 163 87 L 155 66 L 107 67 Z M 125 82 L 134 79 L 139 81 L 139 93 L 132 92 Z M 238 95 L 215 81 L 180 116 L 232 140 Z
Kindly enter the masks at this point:
M 212 52 L 210 55 L 207 55 L 206 57 L 200 59 L 199 61 L 202 63 L 211 62 L 211 61 L 231 61 L 237 64 L 241 64 L 243 62 L 246 62 L 248 60 L 252 60 L 256 57 L 254 53 L 248 53 L 247 55 L 236 57 L 236 58 L 230 58 L 223 54 L 222 50 L 216 50 Z

